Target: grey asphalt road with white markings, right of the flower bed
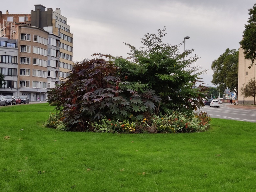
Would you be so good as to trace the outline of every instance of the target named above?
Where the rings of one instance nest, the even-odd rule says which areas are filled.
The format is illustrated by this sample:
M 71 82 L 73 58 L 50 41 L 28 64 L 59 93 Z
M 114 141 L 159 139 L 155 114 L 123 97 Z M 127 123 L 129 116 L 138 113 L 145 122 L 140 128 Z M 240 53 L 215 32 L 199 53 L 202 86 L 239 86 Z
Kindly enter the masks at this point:
M 205 106 L 200 111 L 207 112 L 212 118 L 231 119 L 237 121 L 248 121 L 256 123 L 256 110 L 254 109 L 234 109 L 225 103 L 217 107 Z

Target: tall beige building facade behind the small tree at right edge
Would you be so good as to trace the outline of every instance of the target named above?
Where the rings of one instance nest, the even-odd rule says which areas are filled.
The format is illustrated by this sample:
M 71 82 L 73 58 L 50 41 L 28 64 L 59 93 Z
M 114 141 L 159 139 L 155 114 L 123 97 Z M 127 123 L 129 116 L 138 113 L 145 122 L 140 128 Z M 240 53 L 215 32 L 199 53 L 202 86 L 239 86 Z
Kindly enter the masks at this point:
M 239 59 L 238 59 L 238 104 L 251 105 L 253 104 L 253 97 L 244 97 L 240 89 L 243 84 L 248 83 L 251 78 L 256 78 L 256 66 L 254 65 L 249 69 L 251 65 L 251 60 L 244 58 L 244 50 L 240 47 L 239 49 Z

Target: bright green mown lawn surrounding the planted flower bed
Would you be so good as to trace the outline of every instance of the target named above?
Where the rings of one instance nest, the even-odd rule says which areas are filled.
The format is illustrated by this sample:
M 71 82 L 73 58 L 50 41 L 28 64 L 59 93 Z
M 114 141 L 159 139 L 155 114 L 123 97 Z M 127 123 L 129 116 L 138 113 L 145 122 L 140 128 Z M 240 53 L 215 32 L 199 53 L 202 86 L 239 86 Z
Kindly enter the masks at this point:
M 0 107 L 0 191 L 256 190 L 255 123 L 212 119 L 203 133 L 75 133 L 42 127 L 53 109 Z

